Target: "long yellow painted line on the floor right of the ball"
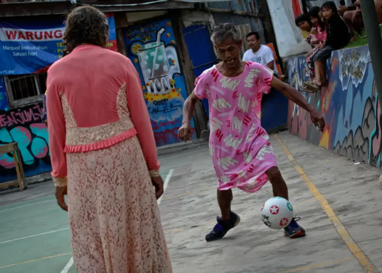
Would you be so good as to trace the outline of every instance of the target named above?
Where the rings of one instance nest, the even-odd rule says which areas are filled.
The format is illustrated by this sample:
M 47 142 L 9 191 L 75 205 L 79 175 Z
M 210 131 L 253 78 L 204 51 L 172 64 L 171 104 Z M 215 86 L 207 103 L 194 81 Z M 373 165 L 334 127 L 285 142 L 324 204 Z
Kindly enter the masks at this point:
M 284 151 L 285 155 L 288 158 L 293 158 L 292 154 L 290 153 L 288 148 L 284 145 L 284 143 L 281 141 L 280 137 L 278 135 L 275 135 L 275 138 L 277 142 L 279 143 L 281 149 Z M 328 201 L 319 192 L 317 187 L 313 184 L 312 180 L 310 180 L 309 176 L 305 173 L 304 169 L 301 166 L 299 166 L 297 161 L 295 161 L 294 159 L 293 160 L 289 159 L 289 160 L 292 162 L 294 169 L 296 169 L 297 173 L 301 175 L 301 177 L 307 183 L 310 192 L 320 202 L 322 209 L 326 212 L 330 221 L 332 221 L 334 227 L 336 228 L 338 234 L 342 237 L 343 241 L 346 243 L 351 254 L 358 260 L 364 272 L 367 272 L 367 273 L 377 272 L 374 266 L 369 261 L 369 259 L 366 257 L 365 253 L 358 247 L 357 243 L 354 242 L 353 238 L 351 238 L 350 234 L 347 232 L 344 225 L 338 219 L 336 213 L 334 213 Z

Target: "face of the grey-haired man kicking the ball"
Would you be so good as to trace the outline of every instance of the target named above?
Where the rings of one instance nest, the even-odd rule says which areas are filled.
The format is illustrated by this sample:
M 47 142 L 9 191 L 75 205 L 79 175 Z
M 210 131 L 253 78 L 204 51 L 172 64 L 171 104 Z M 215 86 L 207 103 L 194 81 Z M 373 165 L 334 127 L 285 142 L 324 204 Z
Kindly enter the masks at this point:
M 217 54 L 220 60 L 224 62 L 226 67 L 235 68 L 240 64 L 240 47 L 241 40 L 234 42 L 232 38 L 228 38 L 220 43 L 215 43 Z

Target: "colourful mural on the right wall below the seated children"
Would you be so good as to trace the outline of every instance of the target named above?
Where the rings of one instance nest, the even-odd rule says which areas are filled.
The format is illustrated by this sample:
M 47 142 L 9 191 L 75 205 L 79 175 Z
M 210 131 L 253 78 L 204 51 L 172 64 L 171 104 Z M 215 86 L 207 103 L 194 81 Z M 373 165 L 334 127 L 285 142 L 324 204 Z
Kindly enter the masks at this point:
M 289 60 L 289 82 L 296 89 L 307 79 L 304 69 L 305 57 Z M 368 47 L 334 51 L 327 63 L 327 74 L 328 87 L 314 94 L 302 92 L 324 116 L 324 132 L 315 128 L 306 111 L 289 101 L 290 132 L 340 155 L 382 168 L 381 111 Z

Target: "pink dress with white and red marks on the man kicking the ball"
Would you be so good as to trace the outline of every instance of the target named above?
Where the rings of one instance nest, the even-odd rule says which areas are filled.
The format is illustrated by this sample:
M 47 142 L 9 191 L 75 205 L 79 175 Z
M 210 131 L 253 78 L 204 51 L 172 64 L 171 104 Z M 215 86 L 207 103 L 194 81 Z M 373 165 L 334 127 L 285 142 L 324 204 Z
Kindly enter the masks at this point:
M 213 66 L 196 79 L 195 94 L 209 103 L 209 148 L 221 190 L 256 192 L 268 181 L 265 172 L 277 166 L 260 122 L 261 97 L 269 93 L 272 76 L 267 67 L 247 62 L 237 77 Z

